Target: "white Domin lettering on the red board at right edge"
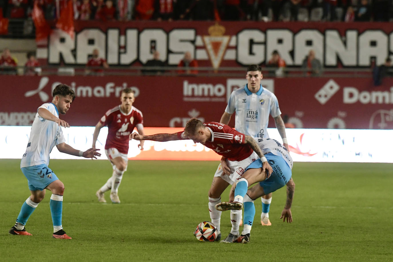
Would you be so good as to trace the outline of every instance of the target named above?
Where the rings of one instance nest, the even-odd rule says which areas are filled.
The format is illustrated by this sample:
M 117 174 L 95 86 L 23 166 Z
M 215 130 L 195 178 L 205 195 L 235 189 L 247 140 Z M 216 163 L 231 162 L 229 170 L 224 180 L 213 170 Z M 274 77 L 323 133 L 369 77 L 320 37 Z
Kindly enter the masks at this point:
M 389 91 L 362 91 L 355 87 L 343 88 L 343 103 L 353 104 L 393 104 L 393 87 Z

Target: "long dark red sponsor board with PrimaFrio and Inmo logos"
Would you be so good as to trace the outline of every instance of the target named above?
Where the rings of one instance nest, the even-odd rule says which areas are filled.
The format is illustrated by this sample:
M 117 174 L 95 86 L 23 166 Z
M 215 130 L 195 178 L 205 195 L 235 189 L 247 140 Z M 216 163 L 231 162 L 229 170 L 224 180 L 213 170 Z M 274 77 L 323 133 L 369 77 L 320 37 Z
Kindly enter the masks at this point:
M 247 83 L 245 75 L 4 75 L 0 125 L 31 125 L 37 108 L 51 101 L 51 93 L 60 83 L 71 86 L 76 93 L 70 111 L 61 115 L 71 126 L 95 126 L 107 110 L 120 104 L 121 90 L 126 87 L 135 91 L 134 106 L 141 110 L 145 126 L 184 127 L 192 117 L 203 122 L 220 121 L 231 92 Z M 262 79 L 261 84 L 275 93 L 282 115 L 288 115 L 296 128 L 393 129 L 392 78 L 384 79 L 378 87 L 373 86 L 372 79 L 362 77 L 274 78 Z M 269 127 L 275 126 L 274 119 L 269 123 Z

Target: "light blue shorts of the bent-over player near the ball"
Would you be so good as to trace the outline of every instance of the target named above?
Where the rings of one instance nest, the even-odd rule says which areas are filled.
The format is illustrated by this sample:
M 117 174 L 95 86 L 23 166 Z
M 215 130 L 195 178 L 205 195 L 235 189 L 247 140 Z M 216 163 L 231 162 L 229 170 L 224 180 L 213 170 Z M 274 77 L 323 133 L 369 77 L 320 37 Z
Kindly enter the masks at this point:
M 263 187 L 263 191 L 265 194 L 269 194 L 276 191 L 277 189 L 280 189 L 281 187 L 285 186 L 286 183 L 288 183 L 288 181 L 292 177 L 292 170 L 285 162 L 285 160 L 280 156 L 276 156 L 272 153 L 267 153 L 265 154 L 265 157 L 268 160 L 270 166 L 272 166 L 273 172 L 270 178 L 259 182 L 259 185 Z M 262 161 L 261 159 L 257 159 L 253 161 L 246 170 L 261 167 Z

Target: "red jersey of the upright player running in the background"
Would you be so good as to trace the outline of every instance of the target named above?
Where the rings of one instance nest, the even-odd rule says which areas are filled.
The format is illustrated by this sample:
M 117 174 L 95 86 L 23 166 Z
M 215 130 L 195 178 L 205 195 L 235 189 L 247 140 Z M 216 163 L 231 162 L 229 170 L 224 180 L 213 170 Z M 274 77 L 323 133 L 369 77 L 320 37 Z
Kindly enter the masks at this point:
M 120 153 L 128 154 L 129 135 L 136 125 L 143 125 L 143 115 L 134 106 L 127 115 L 121 111 L 120 106 L 116 106 L 101 117 L 100 123 L 108 126 L 105 149 L 116 148 Z

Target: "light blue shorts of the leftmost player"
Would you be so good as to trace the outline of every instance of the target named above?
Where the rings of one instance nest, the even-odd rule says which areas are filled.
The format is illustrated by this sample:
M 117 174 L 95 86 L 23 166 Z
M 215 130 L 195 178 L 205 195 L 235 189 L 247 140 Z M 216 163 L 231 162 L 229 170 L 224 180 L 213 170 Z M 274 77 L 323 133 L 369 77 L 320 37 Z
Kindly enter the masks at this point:
M 26 176 L 31 191 L 42 191 L 53 181 L 59 180 L 55 173 L 45 164 L 22 167 L 20 170 Z

